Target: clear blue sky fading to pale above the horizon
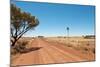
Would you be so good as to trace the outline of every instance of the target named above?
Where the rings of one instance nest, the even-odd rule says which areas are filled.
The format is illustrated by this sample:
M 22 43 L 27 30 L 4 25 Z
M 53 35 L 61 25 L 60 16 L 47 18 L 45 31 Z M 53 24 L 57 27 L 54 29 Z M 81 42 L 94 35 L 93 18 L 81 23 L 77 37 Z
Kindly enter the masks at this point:
M 24 36 L 66 36 L 66 27 L 70 29 L 70 36 L 94 35 L 94 6 L 23 1 L 13 3 L 40 21 L 35 30 L 27 32 Z

